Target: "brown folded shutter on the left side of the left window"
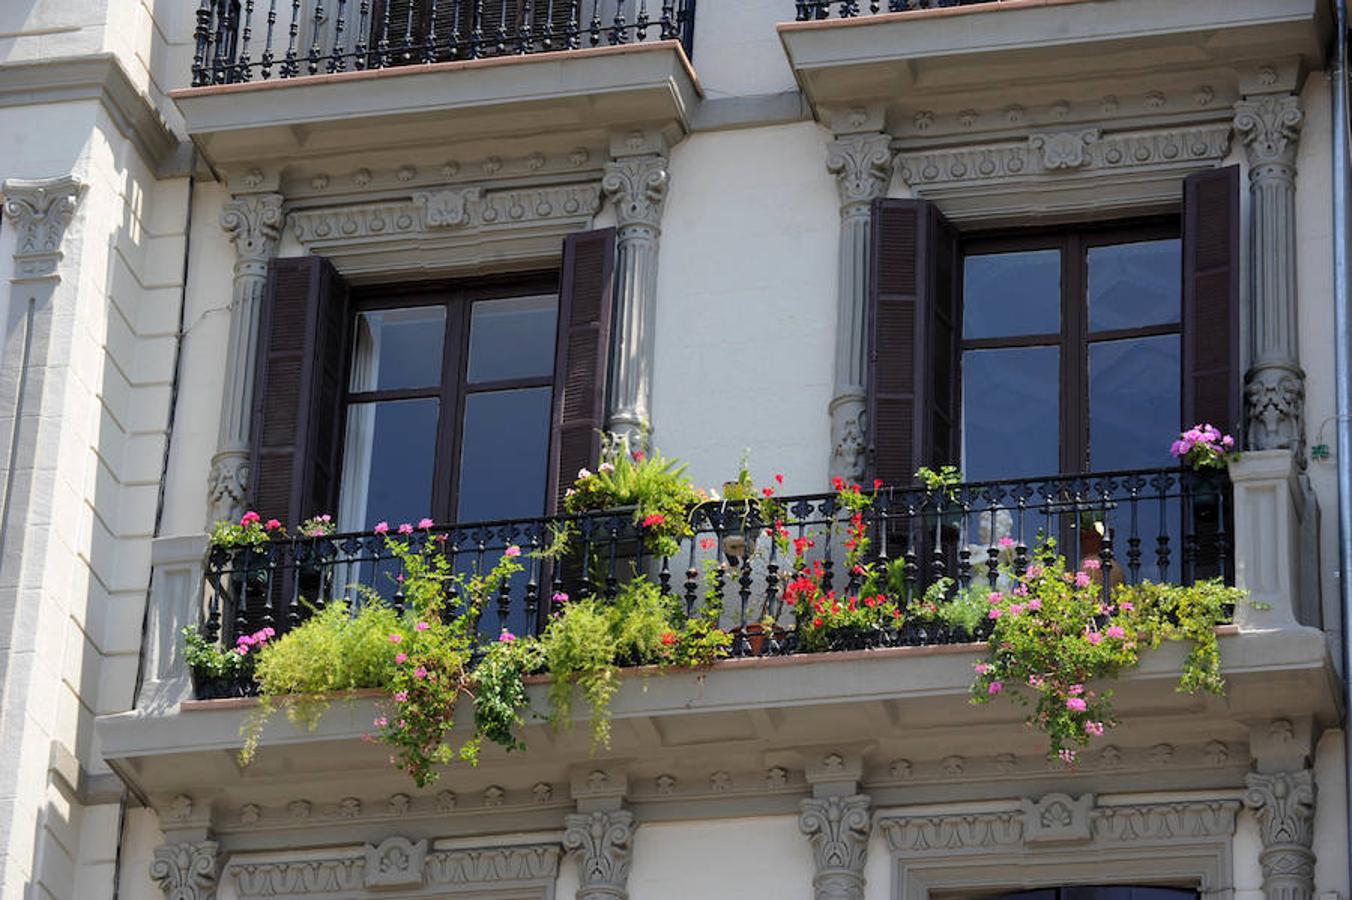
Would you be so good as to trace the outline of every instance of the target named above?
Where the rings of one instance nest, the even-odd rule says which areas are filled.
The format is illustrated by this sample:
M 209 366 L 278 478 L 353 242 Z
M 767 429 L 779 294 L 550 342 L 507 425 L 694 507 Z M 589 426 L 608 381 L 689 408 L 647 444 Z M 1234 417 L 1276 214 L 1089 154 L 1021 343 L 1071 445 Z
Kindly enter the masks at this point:
M 258 332 L 254 509 L 288 527 L 337 508 L 347 285 L 323 257 L 273 259 Z

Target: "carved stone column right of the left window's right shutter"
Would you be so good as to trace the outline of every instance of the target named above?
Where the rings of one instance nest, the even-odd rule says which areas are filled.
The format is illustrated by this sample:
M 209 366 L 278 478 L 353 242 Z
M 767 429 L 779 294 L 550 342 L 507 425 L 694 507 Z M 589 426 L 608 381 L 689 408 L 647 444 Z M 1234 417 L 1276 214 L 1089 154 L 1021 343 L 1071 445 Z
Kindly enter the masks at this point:
M 631 134 L 612 142 L 602 191 L 615 204 L 615 311 L 606 430 L 638 447 L 652 427 L 657 247 L 669 176 L 667 145 Z

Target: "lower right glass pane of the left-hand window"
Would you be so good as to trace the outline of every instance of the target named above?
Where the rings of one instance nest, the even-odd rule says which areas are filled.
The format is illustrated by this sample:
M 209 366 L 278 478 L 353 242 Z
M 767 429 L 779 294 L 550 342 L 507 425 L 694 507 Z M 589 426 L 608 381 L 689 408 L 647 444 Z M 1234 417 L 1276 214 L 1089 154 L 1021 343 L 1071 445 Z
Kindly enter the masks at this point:
M 458 522 L 518 519 L 545 511 L 550 388 L 465 397 Z

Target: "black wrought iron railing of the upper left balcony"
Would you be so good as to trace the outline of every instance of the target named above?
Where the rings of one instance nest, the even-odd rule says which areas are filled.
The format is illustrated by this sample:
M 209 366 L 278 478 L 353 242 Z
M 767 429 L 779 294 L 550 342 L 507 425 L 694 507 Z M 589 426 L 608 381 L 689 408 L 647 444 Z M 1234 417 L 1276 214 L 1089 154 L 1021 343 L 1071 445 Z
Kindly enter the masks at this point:
M 192 84 L 680 41 L 695 0 L 200 0 Z

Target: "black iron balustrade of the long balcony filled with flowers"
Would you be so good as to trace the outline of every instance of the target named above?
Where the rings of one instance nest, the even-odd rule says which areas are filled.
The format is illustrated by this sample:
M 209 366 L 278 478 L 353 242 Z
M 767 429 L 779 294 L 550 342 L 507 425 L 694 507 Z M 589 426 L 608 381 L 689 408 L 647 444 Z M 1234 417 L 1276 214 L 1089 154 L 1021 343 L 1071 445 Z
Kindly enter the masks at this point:
M 822 588 L 852 596 L 861 588 L 846 570 L 845 528 L 850 514 L 837 496 L 776 497 L 777 522 L 788 538 L 811 538 L 808 564 L 821 564 Z M 488 599 L 479 628 L 485 642 L 502 630 L 539 634 L 561 607 L 556 597 L 612 599 L 635 576 L 675 596 L 687 614 L 721 597 L 722 624 L 735 638 L 731 655 L 799 651 L 794 609 L 784 588 L 798 574 L 757 501 L 710 501 L 690 511 L 692 535 L 672 557 L 653 557 L 630 511 L 539 519 L 437 526 L 391 538 L 441 545 L 453 570 L 484 573 L 508 546 L 522 550 L 525 570 Z M 1218 577 L 1233 582 L 1233 499 L 1224 472 L 1186 469 L 1052 476 L 972 482 L 946 491 L 884 488 L 863 512 L 869 538 L 863 562 L 904 572 L 904 589 L 890 599 L 902 607 L 934 584 L 946 597 L 957 591 L 1003 589 L 1002 572 L 1022 572 L 1040 541 L 1052 538 L 1071 565 L 1099 561 L 1095 576 L 1111 600 L 1124 584 L 1142 580 L 1194 584 Z M 571 531 L 569 551 L 548 557 L 560 527 Z M 707 562 L 706 562 L 707 561 Z M 315 609 L 345 600 L 388 603 L 402 609 L 399 561 L 385 535 L 289 536 L 254 550 L 214 549 L 207 559 L 201 632 L 231 646 L 235 636 L 262 627 L 283 635 Z M 944 581 L 946 580 L 946 581 Z M 454 591 L 446 608 L 456 609 Z M 757 632 L 771 616 L 777 626 Z M 940 623 L 904 620 L 896 628 L 842 634 L 827 649 L 968 643 L 987 636 Z M 750 626 L 750 628 L 748 628 Z

